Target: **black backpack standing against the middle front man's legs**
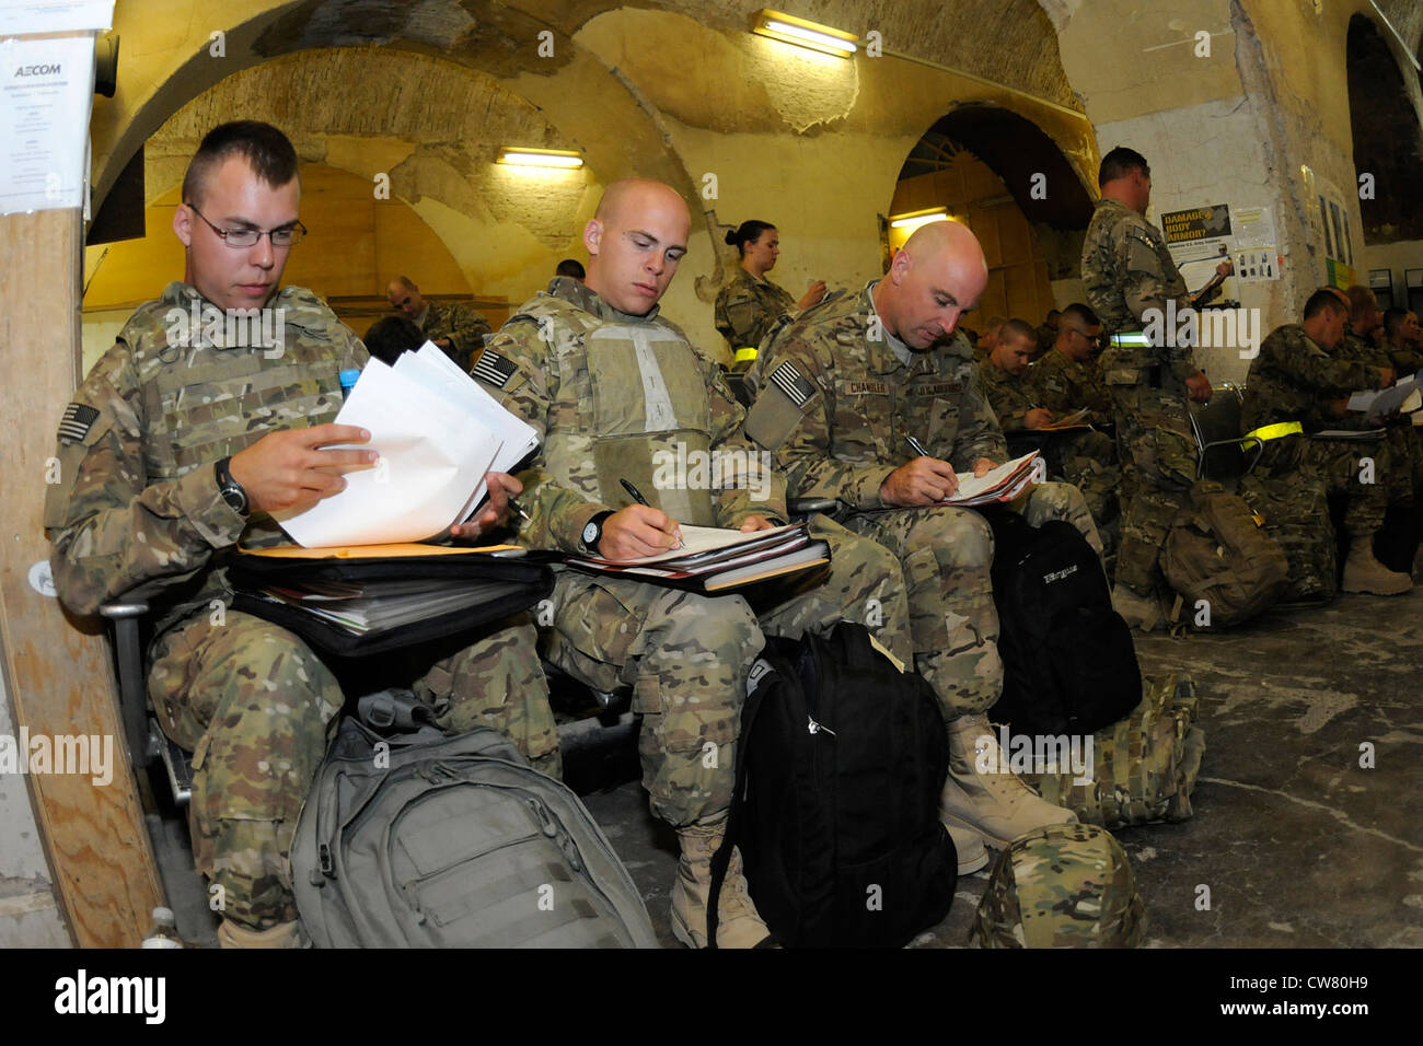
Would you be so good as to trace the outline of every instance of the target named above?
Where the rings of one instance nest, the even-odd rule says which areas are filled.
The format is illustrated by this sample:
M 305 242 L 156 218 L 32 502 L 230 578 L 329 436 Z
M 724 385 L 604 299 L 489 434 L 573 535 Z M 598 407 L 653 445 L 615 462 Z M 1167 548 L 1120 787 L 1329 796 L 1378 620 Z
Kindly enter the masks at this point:
M 862 625 L 767 639 L 736 760 L 709 941 L 733 844 L 757 912 L 787 948 L 902 948 L 948 914 L 958 857 L 939 823 L 943 714 Z

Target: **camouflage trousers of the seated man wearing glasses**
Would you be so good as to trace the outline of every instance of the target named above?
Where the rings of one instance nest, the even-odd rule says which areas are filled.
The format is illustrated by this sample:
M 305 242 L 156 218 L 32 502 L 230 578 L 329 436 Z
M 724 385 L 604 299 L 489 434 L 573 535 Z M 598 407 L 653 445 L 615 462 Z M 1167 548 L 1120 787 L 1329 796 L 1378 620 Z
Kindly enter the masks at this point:
M 536 633 L 514 620 L 427 660 L 413 689 L 441 730 L 494 727 L 556 776 Z M 199 616 L 164 633 L 148 693 L 164 733 L 194 753 L 194 861 L 223 918 L 248 929 L 295 921 L 292 837 L 344 702 L 336 676 L 297 636 L 232 611 L 222 625 Z

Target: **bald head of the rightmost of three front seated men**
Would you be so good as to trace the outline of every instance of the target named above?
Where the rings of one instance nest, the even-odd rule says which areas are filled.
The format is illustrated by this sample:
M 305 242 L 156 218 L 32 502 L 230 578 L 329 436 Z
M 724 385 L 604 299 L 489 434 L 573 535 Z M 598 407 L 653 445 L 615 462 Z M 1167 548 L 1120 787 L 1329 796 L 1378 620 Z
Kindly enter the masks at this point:
M 983 248 L 966 225 L 921 225 L 875 285 L 875 312 L 885 330 L 915 352 L 952 333 L 959 316 L 988 286 Z

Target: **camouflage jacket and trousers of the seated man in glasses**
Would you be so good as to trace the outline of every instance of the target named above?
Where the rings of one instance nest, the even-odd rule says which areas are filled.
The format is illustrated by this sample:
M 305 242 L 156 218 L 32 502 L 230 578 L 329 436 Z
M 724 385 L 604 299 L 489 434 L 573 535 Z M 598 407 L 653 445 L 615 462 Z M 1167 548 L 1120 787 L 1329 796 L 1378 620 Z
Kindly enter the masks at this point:
M 55 588 L 75 613 L 155 589 L 148 692 L 164 731 L 195 750 L 196 865 L 223 887 L 226 918 L 266 929 L 296 918 L 287 852 L 342 692 L 290 632 L 221 612 L 233 545 L 282 535 L 269 517 L 235 512 L 212 465 L 270 431 L 332 421 L 337 373 L 361 366 L 366 349 L 300 287 L 269 302 L 283 310 L 280 352 L 223 349 L 202 333 L 185 347 L 168 334 L 195 302 L 194 287 L 172 283 L 139 306 L 74 394 L 44 525 Z M 485 722 L 556 770 L 534 642 L 528 623 L 495 632 L 425 665 L 417 690 L 451 727 Z

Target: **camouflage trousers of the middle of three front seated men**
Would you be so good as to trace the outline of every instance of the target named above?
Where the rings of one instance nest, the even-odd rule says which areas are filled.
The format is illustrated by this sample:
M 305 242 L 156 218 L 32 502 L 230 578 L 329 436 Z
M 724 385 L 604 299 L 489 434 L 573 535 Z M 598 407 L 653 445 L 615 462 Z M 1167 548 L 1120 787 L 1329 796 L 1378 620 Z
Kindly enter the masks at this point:
M 909 660 L 909 611 L 894 556 L 817 517 L 831 566 L 790 586 L 740 595 L 694 592 L 559 571 L 546 656 L 596 690 L 632 687 L 638 749 L 652 811 L 680 828 L 731 804 L 746 677 L 766 635 L 800 638 L 864 622 Z M 764 609 L 763 609 L 764 608 Z

